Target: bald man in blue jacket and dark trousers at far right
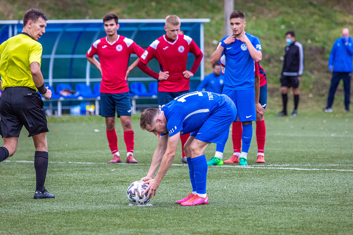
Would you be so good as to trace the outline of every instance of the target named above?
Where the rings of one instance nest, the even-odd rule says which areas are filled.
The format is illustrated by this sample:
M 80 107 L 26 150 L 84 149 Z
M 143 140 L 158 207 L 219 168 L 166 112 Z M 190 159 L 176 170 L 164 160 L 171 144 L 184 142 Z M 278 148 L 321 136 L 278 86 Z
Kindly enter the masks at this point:
M 351 75 L 353 72 L 353 39 L 347 28 L 342 30 L 342 37 L 337 38 L 331 49 L 329 57 L 329 70 L 332 73 L 331 86 L 324 112 L 332 112 L 332 103 L 336 88 L 343 80 L 345 90 L 345 111 L 349 111 L 349 96 L 351 94 Z

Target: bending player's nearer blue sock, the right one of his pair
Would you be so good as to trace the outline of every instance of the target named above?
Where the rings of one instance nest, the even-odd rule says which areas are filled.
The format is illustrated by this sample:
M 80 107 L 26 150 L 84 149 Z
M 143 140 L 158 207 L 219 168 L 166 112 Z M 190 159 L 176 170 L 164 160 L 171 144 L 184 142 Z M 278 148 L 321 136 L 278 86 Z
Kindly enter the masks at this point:
M 194 167 L 194 177 L 197 193 L 206 193 L 207 161 L 206 156 L 201 155 L 191 159 Z

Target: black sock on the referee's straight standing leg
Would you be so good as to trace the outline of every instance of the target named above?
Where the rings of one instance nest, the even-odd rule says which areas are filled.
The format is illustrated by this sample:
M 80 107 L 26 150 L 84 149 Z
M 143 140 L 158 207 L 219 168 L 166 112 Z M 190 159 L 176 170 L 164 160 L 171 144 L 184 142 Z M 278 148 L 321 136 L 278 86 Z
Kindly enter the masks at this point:
M 36 190 L 44 192 L 44 182 L 48 169 L 48 152 L 36 151 L 34 154 L 34 168 L 36 169 Z

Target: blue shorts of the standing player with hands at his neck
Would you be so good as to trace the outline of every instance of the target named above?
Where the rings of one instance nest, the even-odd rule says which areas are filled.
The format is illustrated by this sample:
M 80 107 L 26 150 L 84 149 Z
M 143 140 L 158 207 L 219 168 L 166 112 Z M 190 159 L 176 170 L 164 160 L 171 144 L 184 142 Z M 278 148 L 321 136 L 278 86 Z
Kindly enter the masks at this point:
M 237 119 L 239 117 L 240 122 L 256 121 L 255 88 L 245 91 L 234 91 L 224 87 L 222 93 L 228 95 L 237 106 Z

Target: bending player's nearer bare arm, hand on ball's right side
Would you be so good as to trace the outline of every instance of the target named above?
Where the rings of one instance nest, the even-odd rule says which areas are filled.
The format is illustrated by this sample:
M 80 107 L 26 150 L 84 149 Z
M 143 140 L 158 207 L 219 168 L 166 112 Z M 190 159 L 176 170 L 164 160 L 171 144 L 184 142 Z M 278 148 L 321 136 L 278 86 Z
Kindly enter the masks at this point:
M 143 191 L 142 194 L 145 194 L 148 191 L 147 198 L 153 197 L 156 195 L 157 188 L 161 184 L 161 180 L 163 179 L 164 175 L 166 175 L 170 165 L 172 165 L 175 152 L 177 151 L 178 148 L 178 141 L 180 138 L 180 132 L 178 134 L 175 134 L 168 139 L 168 145 L 167 145 L 167 150 L 163 155 L 161 167 L 159 168 L 159 171 L 154 179 L 145 181 L 145 183 L 148 183 L 148 187 Z

